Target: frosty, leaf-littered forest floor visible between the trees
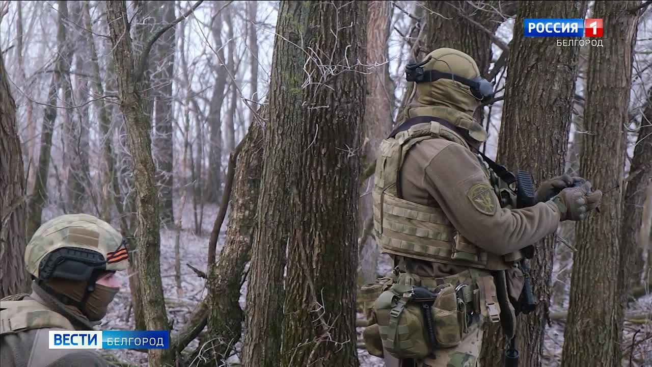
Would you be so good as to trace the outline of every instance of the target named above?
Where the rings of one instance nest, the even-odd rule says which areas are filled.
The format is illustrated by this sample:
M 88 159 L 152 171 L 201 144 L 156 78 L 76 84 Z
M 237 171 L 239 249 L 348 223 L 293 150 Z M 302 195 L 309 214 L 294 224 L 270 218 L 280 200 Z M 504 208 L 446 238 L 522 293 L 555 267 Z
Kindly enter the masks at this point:
M 188 266 L 190 264 L 200 270 L 206 269 L 206 259 L 208 253 L 208 240 L 213 227 L 213 220 L 215 219 L 217 210 L 215 206 L 206 206 L 203 221 L 203 232 L 200 236 L 194 234 L 189 228 L 194 228 L 194 219 L 192 217 L 192 210 L 188 208 L 183 217 L 183 231 L 181 232 L 181 290 L 177 290 L 175 285 L 175 256 L 174 256 L 174 242 L 175 231 L 171 229 L 162 229 L 161 231 L 161 275 L 166 298 L 166 309 L 168 317 L 173 321 L 173 332 L 175 335 L 179 329 L 188 323 L 188 319 L 194 311 L 196 305 L 206 296 L 206 289 L 204 287 L 204 279 L 198 277 Z M 222 247 L 224 239 L 224 231 L 226 231 L 226 223 L 222 226 L 222 233 L 220 234 L 220 241 L 218 242 L 218 253 Z M 381 257 L 384 261 L 379 264 L 379 274 L 387 273 L 391 265 L 389 264 L 388 257 Z M 120 272 L 126 273 L 126 272 Z M 129 315 L 131 295 L 128 287 L 128 279 L 126 274 L 119 274 L 123 280 L 123 289 L 115 296 L 115 300 L 110 304 L 108 314 L 104 318 L 101 325 L 98 326 L 99 330 L 133 330 L 134 318 Z M 243 287 L 243 296 L 240 298 L 241 306 L 244 308 L 244 291 L 246 291 L 246 284 Z M 652 292 L 652 290 L 651 290 Z M 561 310 L 551 310 L 561 311 Z M 630 304 L 628 313 L 646 314 L 647 319 L 652 318 L 652 295 L 648 294 L 638 298 L 636 302 Z M 363 318 L 362 314 L 358 315 Z M 546 328 L 545 346 L 544 346 L 544 361 L 543 365 L 546 367 L 559 366 L 561 360 L 561 348 L 563 345 L 563 327 L 564 323 L 553 321 L 548 328 Z M 638 330 L 638 332 L 636 331 Z M 363 328 L 358 328 L 359 338 L 362 337 Z M 629 355 L 632 349 L 632 340 L 636 332 L 636 345 L 634 346 L 634 355 L 631 364 L 629 364 Z M 623 366 L 638 367 L 638 366 L 652 366 L 652 324 L 647 323 L 638 325 L 635 323 L 626 323 L 625 336 L 623 340 L 629 340 L 623 345 L 625 350 L 625 362 Z M 198 346 L 195 340 L 188 346 L 187 350 L 194 350 Z M 239 347 L 239 345 L 236 345 Z M 192 348 L 192 349 L 191 349 Z M 132 366 L 146 366 L 147 355 L 139 351 L 131 351 L 126 349 L 113 349 L 102 351 L 105 355 L 113 355 L 117 360 Z M 383 367 L 383 361 L 378 357 L 369 355 L 366 350 L 358 350 L 359 360 L 361 367 Z M 229 365 L 238 364 L 238 356 L 232 356 L 228 359 Z M 125 364 L 122 364 L 125 366 Z M 220 364 L 216 364 L 220 366 Z

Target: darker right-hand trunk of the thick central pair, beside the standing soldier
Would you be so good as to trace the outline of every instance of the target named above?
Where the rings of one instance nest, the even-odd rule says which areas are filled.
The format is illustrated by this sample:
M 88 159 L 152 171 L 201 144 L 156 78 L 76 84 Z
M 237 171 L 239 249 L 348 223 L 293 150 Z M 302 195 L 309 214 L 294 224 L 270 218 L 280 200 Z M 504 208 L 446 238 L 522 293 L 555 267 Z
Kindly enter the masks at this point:
M 278 125 L 271 121 L 268 131 L 284 147 L 277 158 L 290 163 L 289 185 L 276 191 L 289 205 L 282 212 L 289 237 L 281 365 L 357 366 L 357 152 L 366 76 L 356 64 L 366 61 L 367 4 L 310 1 L 300 7 L 293 14 L 302 16 L 292 18 L 297 23 L 290 29 L 305 29 L 306 50 L 322 57 L 302 52 L 286 59 L 282 71 L 299 82 L 307 74 L 312 83 L 289 89 L 295 96 L 271 99 L 272 106 L 290 106 L 298 98 L 301 111 Z

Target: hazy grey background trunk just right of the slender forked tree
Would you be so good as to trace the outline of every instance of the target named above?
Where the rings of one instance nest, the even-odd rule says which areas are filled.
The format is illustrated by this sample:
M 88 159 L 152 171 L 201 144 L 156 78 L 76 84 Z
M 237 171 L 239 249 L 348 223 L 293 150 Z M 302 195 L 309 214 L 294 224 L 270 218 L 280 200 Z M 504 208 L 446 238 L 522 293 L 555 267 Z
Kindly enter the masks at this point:
M 175 20 L 174 1 L 158 1 L 156 20 L 162 24 L 169 24 Z M 174 27 L 163 33 L 154 46 L 152 65 L 156 65 L 157 71 L 153 74 L 155 85 L 160 86 L 154 91 L 155 100 L 155 121 L 154 121 L 154 149 L 156 152 L 156 184 L 160 193 L 159 214 L 161 221 L 170 225 L 174 223 L 174 212 L 172 206 L 173 197 L 173 131 L 172 131 L 172 80 L 174 78 L 174 48 L 175 30 Z

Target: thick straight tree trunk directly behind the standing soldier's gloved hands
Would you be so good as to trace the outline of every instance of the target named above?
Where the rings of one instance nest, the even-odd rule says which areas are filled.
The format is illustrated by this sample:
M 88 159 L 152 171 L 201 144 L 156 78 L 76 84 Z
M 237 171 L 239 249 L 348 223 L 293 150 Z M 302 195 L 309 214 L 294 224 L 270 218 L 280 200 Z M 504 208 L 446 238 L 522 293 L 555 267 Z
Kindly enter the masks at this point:
M 593 18 L 610 29 L 604 47 L 589 54 L 580 173 L 593 187 L 623 184 L 623 122 L 627 121 L 632 43 L 638 1 L 596 1 Z M 617 57 L 614 57 L 617 56 Z M 608 60 L 608 61 L 607 61 Z M 622 224 L 621 195 L 602 198 L 600 213 L 576 225 L 571 300 L 564 334 L 561 366 L 619 366 L 619 335 L 623 321 L 619 266 Z

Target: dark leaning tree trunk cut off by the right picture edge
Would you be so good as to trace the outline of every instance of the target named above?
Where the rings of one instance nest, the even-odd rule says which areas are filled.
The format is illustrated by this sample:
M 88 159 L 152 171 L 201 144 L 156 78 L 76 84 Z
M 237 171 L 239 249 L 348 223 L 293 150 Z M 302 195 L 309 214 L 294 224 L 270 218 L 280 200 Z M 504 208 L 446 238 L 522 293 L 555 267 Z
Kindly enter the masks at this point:
M 634 156 L 629 168 L 629 176 L 623 197 L 623 228 L 621 234 L 623 256 L 619 268 L 623 272 L 619 279 L 619 289 L 623 290 L 623 302 L 627 302 L 629 289 L 643 278 L 645 236 L 642 232 L 645 189 L 652 182 L 652 88 L 647 89 L 647 103 L 641 118 L 641 125 L 634 146 Z

